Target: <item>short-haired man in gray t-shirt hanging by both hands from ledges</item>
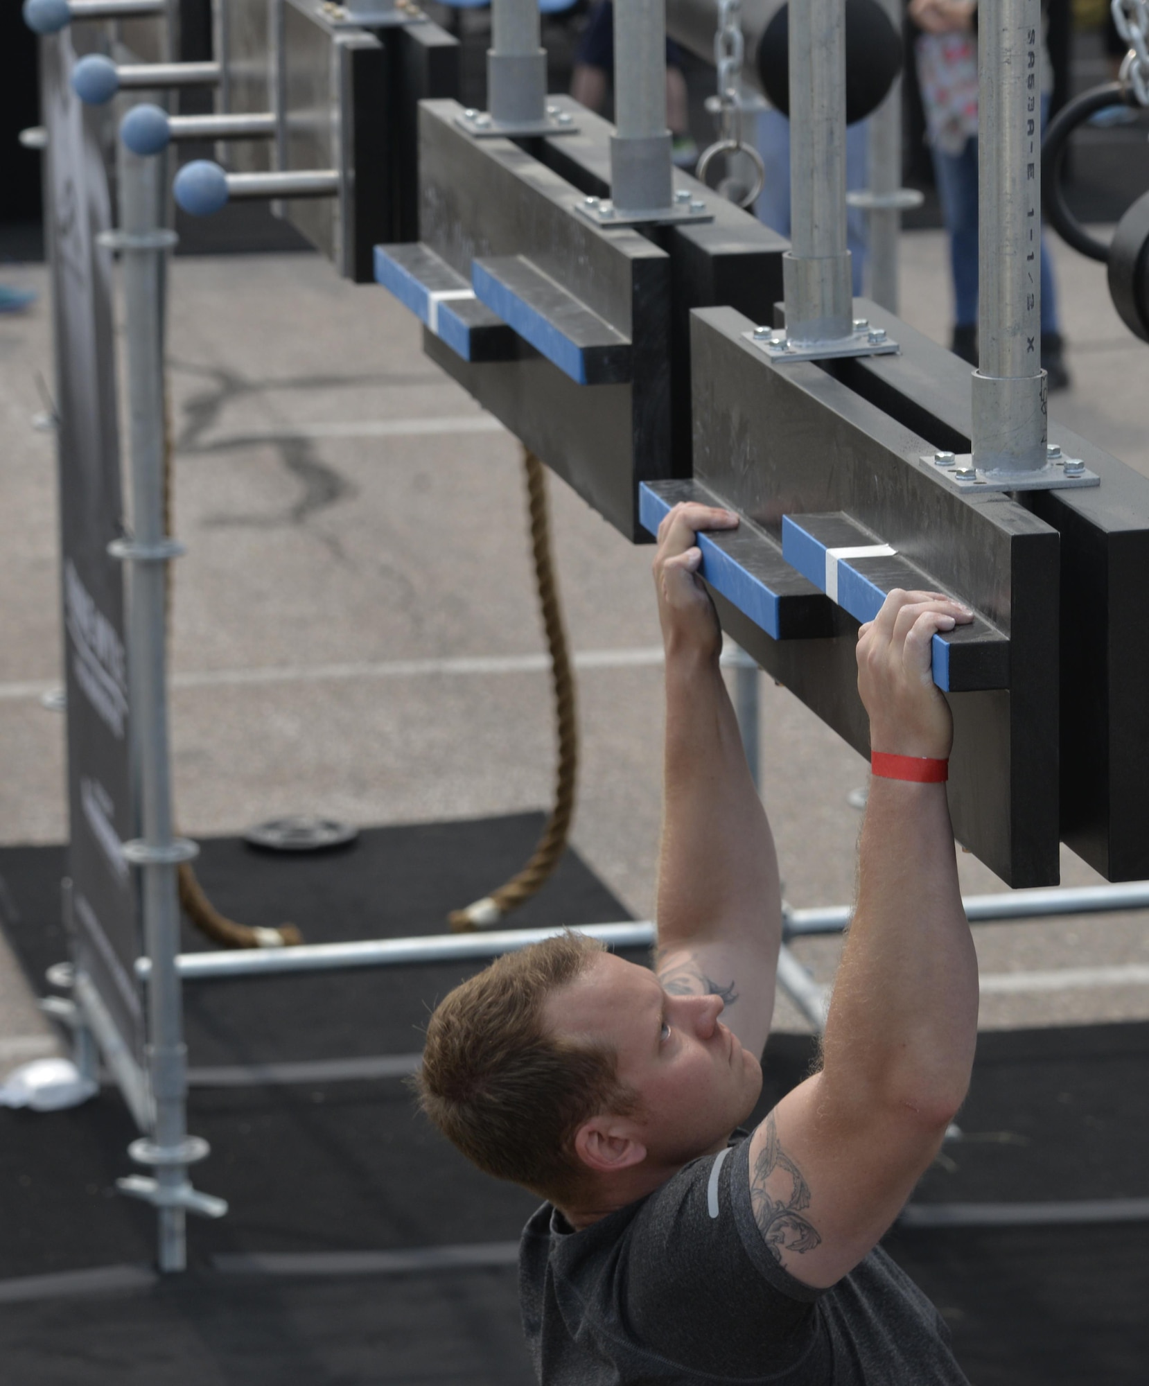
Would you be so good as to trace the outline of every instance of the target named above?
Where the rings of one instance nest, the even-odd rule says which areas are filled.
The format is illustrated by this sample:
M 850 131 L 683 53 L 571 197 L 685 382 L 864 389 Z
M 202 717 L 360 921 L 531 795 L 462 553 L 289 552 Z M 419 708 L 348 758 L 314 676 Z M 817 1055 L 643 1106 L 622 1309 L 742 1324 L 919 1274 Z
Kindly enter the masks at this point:
M 970 620 L 893 592 L 858 632 L 873 782 L 818 1071 L 750 1135 L 782 936 L 778 862 L 678 506 L 654 578 L 667 663 L 653 972 L 584 936 L 509 954 L 431 1017 L 431 1120 L 547 1202 L 523 1235 L 543 1386 L 962 1383 L 937 1310 L 877 1246 L 961 1106 L 977 962 L 945 798 L 930 642 Z M 733 1132 L 733 1135 L 732 1135 Z

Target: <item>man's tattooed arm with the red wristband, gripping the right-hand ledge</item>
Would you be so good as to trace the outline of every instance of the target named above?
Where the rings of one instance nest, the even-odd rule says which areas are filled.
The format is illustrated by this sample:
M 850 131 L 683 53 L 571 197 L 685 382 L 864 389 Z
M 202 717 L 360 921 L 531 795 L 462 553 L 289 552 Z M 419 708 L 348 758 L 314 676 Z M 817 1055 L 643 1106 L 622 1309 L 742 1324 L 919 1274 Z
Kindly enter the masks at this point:
M 894 592 L 862 626 L 858 687 L 875 751 L 948 755 L 930 642 L 969 618 L 948 599 Z M 822 1070 L 748 1142 L 754 1217 L 791 1275 L 833 1285 L 877 1243 L 966 1095 L 976 1040 L 977 959 L 945 784 L 875 776 Z

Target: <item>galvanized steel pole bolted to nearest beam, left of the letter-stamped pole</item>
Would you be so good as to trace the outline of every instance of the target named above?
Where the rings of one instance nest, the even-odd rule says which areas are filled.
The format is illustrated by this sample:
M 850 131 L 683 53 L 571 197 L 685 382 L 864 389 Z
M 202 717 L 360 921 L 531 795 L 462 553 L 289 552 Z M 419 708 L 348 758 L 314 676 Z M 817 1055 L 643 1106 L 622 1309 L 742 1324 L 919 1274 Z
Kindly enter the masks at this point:
M 797 345 L 852 331 L 845 248 L 844 0 L 790 6 L 790 252 L 786 335 Z

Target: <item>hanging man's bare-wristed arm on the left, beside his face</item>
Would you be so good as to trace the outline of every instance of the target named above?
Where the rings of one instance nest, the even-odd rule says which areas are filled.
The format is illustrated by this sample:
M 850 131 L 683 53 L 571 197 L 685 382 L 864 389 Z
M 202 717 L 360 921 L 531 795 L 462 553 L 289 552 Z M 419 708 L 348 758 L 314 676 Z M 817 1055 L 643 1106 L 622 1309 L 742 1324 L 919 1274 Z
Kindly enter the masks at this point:
M 699 529 L 736 523 L 725 510 L 681 505 L 658 529 L 667 735 L 656 970 L 672 995 L 721 995 L 723 1024 L 761 1053 L 782 941 L 778 857 L 718 665 L 722 632 L 694 545 Z

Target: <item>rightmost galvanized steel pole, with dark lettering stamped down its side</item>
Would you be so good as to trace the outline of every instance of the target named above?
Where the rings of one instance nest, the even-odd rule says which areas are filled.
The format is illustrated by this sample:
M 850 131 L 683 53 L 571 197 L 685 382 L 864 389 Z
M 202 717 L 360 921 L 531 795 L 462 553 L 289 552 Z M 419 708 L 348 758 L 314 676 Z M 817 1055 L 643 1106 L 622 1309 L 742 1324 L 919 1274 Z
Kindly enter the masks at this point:
M 973 462 L 1046 466 L 1041 370 L 1041 0 L 979 7 L 979 315 Z

